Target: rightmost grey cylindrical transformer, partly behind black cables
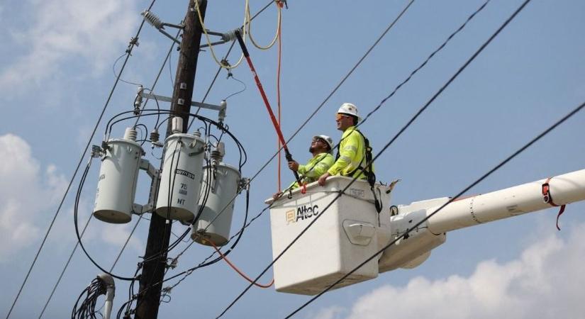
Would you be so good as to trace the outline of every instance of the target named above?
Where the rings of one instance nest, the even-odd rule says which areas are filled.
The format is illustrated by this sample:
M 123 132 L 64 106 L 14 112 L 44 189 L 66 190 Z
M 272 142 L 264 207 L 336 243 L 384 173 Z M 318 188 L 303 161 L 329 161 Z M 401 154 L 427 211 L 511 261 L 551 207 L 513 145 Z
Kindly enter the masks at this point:
M 204 167 L 199 205 L 203 205 L 204 201 L 205 205 L 193 228 L 191 239 L 203 245 L 210 245 L 205 239 L 211 240 L 216 246 L 228 242 L 234 197 L 239 183 L 240 172 L 228 164 Z

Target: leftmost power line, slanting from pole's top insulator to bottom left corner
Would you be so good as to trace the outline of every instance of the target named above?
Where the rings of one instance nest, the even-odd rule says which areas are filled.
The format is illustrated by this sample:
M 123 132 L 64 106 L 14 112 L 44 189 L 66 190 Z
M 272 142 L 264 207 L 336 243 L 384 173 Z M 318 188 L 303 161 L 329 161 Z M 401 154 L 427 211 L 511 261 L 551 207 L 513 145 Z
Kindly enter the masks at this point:
M 155 4 L 155 1 L 156 0 L 152 0 L 152 2 L 150 3 L 150 6 L 148 7 L 149 10 Z M 35 258 L 33 259 L 33 262 L 30 264 L 28 272 L 26 273 L 26 276 L 23 280 L 23 283 L 21 284 L 21 288 L 18 289 L 18 293 L 16 293 L 16 297 L 14 298 L 12 306 L 10 307 L 9 312 L 6 315 L 6 319 L 8 319 L 10 317 L 12 310 L 13 310 L 14 306 L 16 305 L 16 301 L 18 301 L 18 297 L 21 296 L 21 292 L 23 291 L 24 285 L 26 284 L 26 281 L 28 280 L 28 276 L 30 276 L 30 272 L 32 272 L 33 267 L 35 267 L 35 264 L 36 264 L 37 259 L 38 259 L 38 255 L 40 254 L 40 251 L 43 250 L 43 246 L 45 245 L 47 237 L 49 236 L 49 233 L 52 229 L 52 226 L 55 224 L 55 220 L 57 219 L 57 216 L 59 215 L 61 207 L 63 206 L 63 203 L 65 202 L 65 198 L 67 197 L 67 194 L 69 193 L 69 189 L 71 188 L 71 185 L 73 184 L 73 181 L 74 181 L 75 177 L 77 176 L 77 172 L 79 172 L 79 167 L 81 167 L 81 165 L 82 165 L 83 159 L 85 157 L 85 153 L 87 152 L 87 149 L 89 148 L 89 144 L 91 144 L 91 139 L 94 138 L 94 135 L 95 135 L 96 130 L 99 126 L 99 123 L 101 122 L 101 118 L 104 116 L 104 113 L 106 112 L 106 108 L 108 107 L 108 104 L 110 103 L 111 97 L 113 95 L 113 91 L 116 90 L 116 86 L 118 85 L 118 82 L 120 81 L 120 77 L 122 75 L 122 72 L 124 71 L 124 68 L 126 67 L 126 63 L 128 62 L 128 59 L 130 59 L 132 50 L 133 50 L 134 46 L 136 45 L 136 39 L 138 39 L 138 35 L 140 35 L 140 31 L 142 30 L 143 26 L 144 26 L 144 20 L 140 23 L 140 26 L 138 27 L 138 31 L 136 32 L 136 35 L 133 38 L 133 40 L 130 40 L 130 44 L 128 45 L 128 49 L 126 49 L 126 59 L 124 60 L 124 63 L 120 69 L 120 72 L 118 73 L 118 77 L 116 77 L 116 81 L 114 82 L 114 84 L 112 86 L 110 94 L 108 94 L 108 99 L 106 100 L 106 103 L 104 104 L 104 108 L 102 108 L 102 110 L 101 110 L 98 121 L 96 122 L 96 125 L 94 126 L 94 130 L 91 132 L 91 135 L 89 136 L 89 139 L 87 140 L 87 144 L 85 145 L 85 148 L 82 152 L 82 155 L 79 158 L 79 162 L 77 162 L 77 167 L 75 168 L 73 176 L 71 177 L 71 180 L 69 181 L 69 184 L 67 185 L 67 189 L 65 189 L 65 194 L 63 194 L 63 197 L 61 198 L 59 206 L 57 207 L 57 211 L 55 212 L 55 216 L 53 216 L 51 223 L 49 225 L 49 228 L 47 230 L 47 233 L 45 233 L 45 237 L 43 237 L 43 241 L 40 243 L 40 247 L 38 248 L 38 251 L 35 254 Z

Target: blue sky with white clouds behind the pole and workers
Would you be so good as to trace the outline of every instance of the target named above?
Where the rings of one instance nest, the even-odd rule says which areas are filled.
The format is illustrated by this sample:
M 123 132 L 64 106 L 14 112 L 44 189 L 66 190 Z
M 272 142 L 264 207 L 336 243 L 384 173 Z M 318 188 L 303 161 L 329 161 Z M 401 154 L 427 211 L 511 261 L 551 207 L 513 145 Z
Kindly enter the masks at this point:
M 289 1 L 282 10 L 282 131 L 289 138 L 325 101 L 408 1 Z M 296 135 L 289 148 L 299 162 L 313 135 L 335 142 L 334 115 L 344 102 L 367 114 L 408 77 L 431 52 L 464 23 L 484 1 L 416 0 L 362 64 L 335 91 L 323 108 Z M 374 155 L 405 125 L 469 57 L 511 16 L 523 1 L 493 0 L 470 21 L 410 82 L 362 125 Z M 187 1 L 157 1 L 152 7 L 162 21 L 179 23 Z M 250 1 L 252 13 L 267 1 Z M 33 262 L 79 159 L 115 82 L 130 38 L 140 25 L 140 12 L 150 1 L 99 2 L 72 0 L 5 0 L 0 3 L 0 272 L 6 316 Z M 244 1 L 209 1 L 206 27 L 225 32 L 241 25 Z M 585 21 L 582 1 L 531 1 L 486 49 L 430 104 L 376 162 L 381 181 L 401 179 L 391 203 L 408 204 L 453 196 L 518 150 L 535 135 L 585 100 Z M 277 10 L 269 7 L 252 21 L 252 35 L 265 45 L 277 29 Z M 174 34 L 170 29 L 169 33 Z M 205 40 L 203 40 L 205 41 Z M 171 45 L 148 25 L 141 30 L 121 78 L 152 86 Z M 278 47 L 250 57 L 277 108 Z M 228 45 L 216 47 L 225 55 Z M 228 60 L 235 64 L 236 45 Z M 122 59 L 123 60 L 123 59 Z M 165 65 L 155 93 L 172 94 L 177 52 Z M 199 55 L 194 101 L 201 101 L 218 66 L 209 50 Z M 113 70 L 114 69 L 114 70 Z M 247 150 L 243 175 L 252 177 L 277 151 L 277 135 L 269 121 L 250 69 L 245 63 L 229 78 L 223 70 L 206 102 L 230 96 L 225 123 Z M 91 144 L 104 138 L 106 122 L 133 108 L 136 85 L 118 83 Z M 154 104 L 149 104 L 154 107 Z M 168 108 L 162 102 L 161 108 Z M 213 111 L 201 111 L 216 119 Z M 499 169 L 468 194 L 585 168 L 585 112 L 577 113 L 552 133 Z M 149 130 L 155 118 L 145 118 Z M 120 123 L 120 138 L 131 123 Z M 146 144 L 146 157 L 158 163 L 160 149 Z M 225 162 L 237 164 L 235 145 L 226 143 Z M 82 167 L 83 168 L 83 167 Z M 93 163 L 82 190 L 79 224 L 91 214 L 99 173 Z M 292 174 L 282 164 L 282 186 Z M 150 181 L 141 173 L 137 203 L 147 201 Z M 52 226 L 48 240 L 10 318 L 38 318 L 77 238 L 73 198 L 79 173 Z M 277 161 L 255 177 L 250 190 L 250 216 L 278 187 Z M 245 197 L 235 203 L 232 234 L 243 222 Z M 447 233 L 447 242 L 415 269 L 386 272 L 370 281 L 325 293 L 299 311 L 296 318 L 581 318 L 585 274 L 585 205 L 572 203 L 555 228 L 557 208 Z M 147 217 L 147 216 L 146 216 Z M 84 243 L 99 264 L 109 269 L 138 220 L 112 225 L 91 220 Z M 269 214 L 247 228 L 230 260 L 255 277 L 272 260 Z M 147 220 L 141 220 L 113 272 L 131 276 L 143 256 Z M 180 234 L 183 226 L 173 226 Z M 169 257 L 179 254 L 184 242 Z M 314 252 L 320 254 L 322 252 Z M 168 275 L 199 264 L 211 249 L 194 244 Z M 299 261 L 299 269 L 303 262 Z M 76 252 L 43 318 L 65 318 L 77 296 L 99 274 Z M 272 279 L 272 270 L 260 279 Z M 169 281 L 174 284 L 177 280 Z M 247 281 L 219 262 L 187 276 L 161 303 L 159 318 L 215 318 L 247 286 Z M 308 296 L 250 289 L 223 318 L 283 318 Z M 114 312 L 128 300 L 128 283 L 116 281 Z M 101 298 L 100 301 L 103 301 Z

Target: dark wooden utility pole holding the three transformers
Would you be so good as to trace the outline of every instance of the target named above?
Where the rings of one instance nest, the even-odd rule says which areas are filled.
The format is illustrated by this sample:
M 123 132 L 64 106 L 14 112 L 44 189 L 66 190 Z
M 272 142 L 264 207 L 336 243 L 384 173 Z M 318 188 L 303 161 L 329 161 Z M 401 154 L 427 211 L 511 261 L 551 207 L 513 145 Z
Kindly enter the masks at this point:
M 198 1 L 198 0 L 195 0 Z M 207 0 L 199 0 L 201 17 L 205 18 Z M 183 118 L 183 133 L 186 133 L 189 124 L 189 111 L 191 98 L 195 84 L 195 71 L 197 57 L 199 56 L 199 44 L 203 28 L 195 11 L 195 3 L 189 0 L 186 16 L 184 19 L 184 30 L 181 40 L 181 50 L 177 64 L 177 76 L 175 77 L 174 90 L 171 102 L 171 111 L 174 116 Z M 167 137 L 172 134 L 172 121 L 167 125 Z M 156 183 L 156 181 L 153 181 Z M 154 201 L 156 203 L 156 201 Z M 165 276 L 167 264 L 167 253 L 171 235 L 171 224 L 167 219 L 153 212 L 150 218 L 148 229 L 148 240 L 146 242 L 145 262 L 143 272 L 140 276 L 140 293 L 136 305 L 135 319 L 155 319 L 158 315 L 160 304 L 160 293 L 162 279 Z M 160 252 L 165 252 L 160 254 Z M 152 256 L 160 254 L 159 257 L 151 259 Z M 151 286 L 153 285 L 153 286 Z

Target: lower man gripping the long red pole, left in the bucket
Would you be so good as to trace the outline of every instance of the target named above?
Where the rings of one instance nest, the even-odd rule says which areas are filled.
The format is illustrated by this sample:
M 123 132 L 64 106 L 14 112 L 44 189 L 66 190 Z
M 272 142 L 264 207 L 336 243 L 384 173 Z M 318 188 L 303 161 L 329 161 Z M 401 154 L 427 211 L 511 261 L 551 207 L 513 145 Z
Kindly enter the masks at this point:
M 316 135 L 313 136 L 311 146 L 308 148 L 313 157 L 309 159 L 307 164 L 299 165 L 298 162 L 289 162 L 289 169 L 299 173 L 299 177 L 303 184 L 312 183 L 316 181 L 323 173 L 327 172 L 327 169 L 335 159 L 331 155 L 333 151 L 333 140 L 327 135 Z M 296 189 L 300 187 L 299 182 L 294 181 L 287 189 Z M 274 199 L 278 198 L 282 193 L 277 193 L 272 196 Z

